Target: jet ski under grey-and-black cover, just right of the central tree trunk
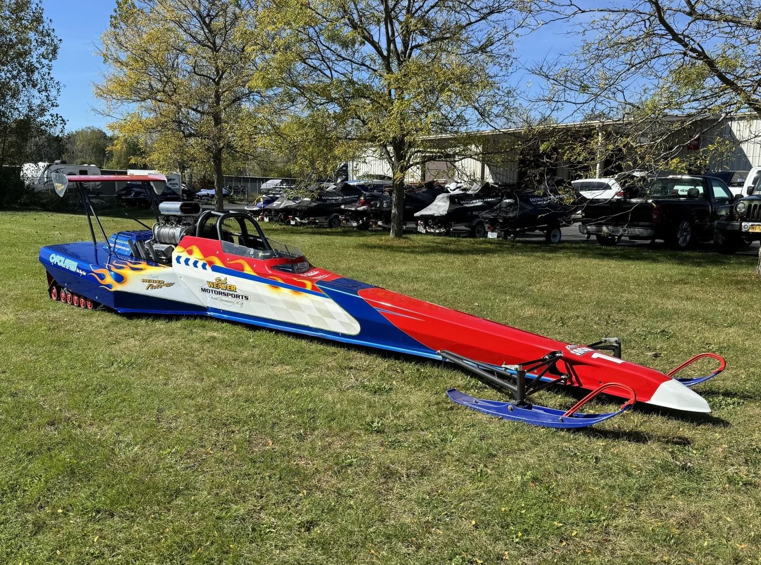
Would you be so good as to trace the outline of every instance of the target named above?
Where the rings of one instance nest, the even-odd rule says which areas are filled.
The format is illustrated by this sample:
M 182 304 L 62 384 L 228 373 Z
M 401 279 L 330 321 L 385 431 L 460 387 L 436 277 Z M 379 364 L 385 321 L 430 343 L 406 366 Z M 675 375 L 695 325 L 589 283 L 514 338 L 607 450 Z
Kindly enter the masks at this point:
M 483 229 L 479 228 L 483 225 L 479 214 L 500 203 L 503 193 L 504 190 L 487 182 L 475 183 L 467 190 L 447 186 L 446 193 L 439 194 L 430 206 L 415 213 L 418 231 L 478 237 L 479 229 Z

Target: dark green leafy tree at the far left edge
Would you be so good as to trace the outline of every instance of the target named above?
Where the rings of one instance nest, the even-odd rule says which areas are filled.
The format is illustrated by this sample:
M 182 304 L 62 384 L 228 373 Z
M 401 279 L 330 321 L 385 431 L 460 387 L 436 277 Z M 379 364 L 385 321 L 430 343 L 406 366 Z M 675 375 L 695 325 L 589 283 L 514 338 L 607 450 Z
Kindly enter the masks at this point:
M 62 129 L 53 80 L 59 40 L 39 0 L 0 0 L 0 166 L 21 164 L 40 130 Z

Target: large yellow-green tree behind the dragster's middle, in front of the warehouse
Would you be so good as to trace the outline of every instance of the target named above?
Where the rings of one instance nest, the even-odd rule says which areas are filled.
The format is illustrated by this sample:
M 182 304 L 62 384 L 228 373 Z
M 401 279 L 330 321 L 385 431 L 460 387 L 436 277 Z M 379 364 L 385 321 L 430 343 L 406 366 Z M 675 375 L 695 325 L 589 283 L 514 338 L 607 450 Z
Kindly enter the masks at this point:
M 391 235 L 401 237 L 406 177 L 439 158 L 436 138 L 469 148 L 464 132 L 493 126 L 510 99 L 514 4 L 272 0 L 260 18 L 275 34 L 270 78 L 256 85 L 279 92 L 281 133 L 316 122 L 333 149 L 374 147 L 393 171 Z

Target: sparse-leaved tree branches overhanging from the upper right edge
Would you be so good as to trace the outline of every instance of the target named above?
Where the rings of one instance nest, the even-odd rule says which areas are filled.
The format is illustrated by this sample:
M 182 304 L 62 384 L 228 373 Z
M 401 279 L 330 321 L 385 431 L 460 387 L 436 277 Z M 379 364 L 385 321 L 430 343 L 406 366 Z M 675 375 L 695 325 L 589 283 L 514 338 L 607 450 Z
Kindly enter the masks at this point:
M 718 124 L 761 115 L 758 0 L 546 8 L 546 21 L 575 24 L 578 49 L 533 69 L 547 85 L 537 101 L 564 121 L 597 121 L 565 145 L 569 160 L 598 173 L 608 155 L 629 169 L 699 170 L 735 143 L 716 135 Z

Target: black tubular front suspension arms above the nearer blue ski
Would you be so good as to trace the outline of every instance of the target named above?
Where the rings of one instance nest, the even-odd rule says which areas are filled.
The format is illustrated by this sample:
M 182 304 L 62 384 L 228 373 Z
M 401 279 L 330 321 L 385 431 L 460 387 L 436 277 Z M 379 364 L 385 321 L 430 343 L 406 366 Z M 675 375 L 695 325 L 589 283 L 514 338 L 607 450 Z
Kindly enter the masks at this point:
M 531 394 L 565 383 L 571 378 L 570 375 L 563 373 L 559 377 L 552 378 L 549 381 L 541 380 L 550 369 L 556 368 L 556 362 L 562 359 L 563 356 L 561 351 L 552 351 L 540 359 L 533 359 L 520 365 L 502 365 L 501 368 L 468 359 L 465 356 L 447 350 L 441 350 L 437 353 L 461 369 L 473 373 L 477 378 L 510 391 L 518 406 L 530 406 L 526 399 Z M 529 375 L 529 373 L 532 374 Z

